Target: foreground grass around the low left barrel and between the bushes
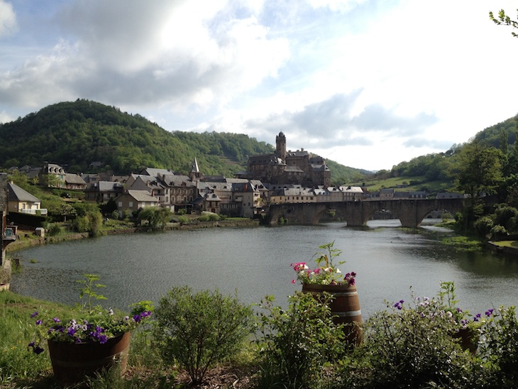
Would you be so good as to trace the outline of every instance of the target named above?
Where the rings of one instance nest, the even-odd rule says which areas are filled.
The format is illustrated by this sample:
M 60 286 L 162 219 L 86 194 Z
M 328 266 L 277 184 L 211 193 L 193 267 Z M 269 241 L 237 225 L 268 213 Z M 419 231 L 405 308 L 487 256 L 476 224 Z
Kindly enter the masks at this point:
M 21 296 L 9 290 L 0 292 L 0 388 L 60 388 L 53 376 L 50 356 L 45 351 L 36 355 L 28 348 L 33 341 L 35 311 L 51 316 L 67 316 L 75 307 Z M 47 349 L 46 346 L 43 346 Z M 140 326 L 131 334 L 128 370 L 121 377 L 113 372 L 104 373 L 87 381 L 89 388 L 184 388 L 188 379 L 175 366 L 165 366 L 153 346 L 150 327 Z M 212 376 L 233 374 L 242 378 L 248 374 L 253 361 L 250 345 L 231 361 L 229 366 L 216 367 Z M 226 373 L 232 371 L 232 374 Z M 253 369 L 252 369 L 253 370 Z M 241 375 L 241 376 L 240 376 Z M 209 374 L 210 376 L 210 374 Z M 221 388 L 232 388 L 232 383 Z

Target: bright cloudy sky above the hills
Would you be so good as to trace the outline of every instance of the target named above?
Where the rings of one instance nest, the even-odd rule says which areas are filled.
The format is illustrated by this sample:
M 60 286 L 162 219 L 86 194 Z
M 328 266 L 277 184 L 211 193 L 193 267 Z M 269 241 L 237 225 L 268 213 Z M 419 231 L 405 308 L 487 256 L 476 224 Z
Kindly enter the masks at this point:
M 509 0 L 0 0 L 0 123 L 89 99 L 390 170 L 518 114 Z M 200 167 L 201 168 L 201 167 Z

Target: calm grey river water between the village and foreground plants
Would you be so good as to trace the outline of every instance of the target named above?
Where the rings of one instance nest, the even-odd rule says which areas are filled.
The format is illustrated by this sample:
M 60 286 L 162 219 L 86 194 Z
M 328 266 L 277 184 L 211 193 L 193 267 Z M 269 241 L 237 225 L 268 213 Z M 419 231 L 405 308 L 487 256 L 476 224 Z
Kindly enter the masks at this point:
M 285 305 L 300 290 L 291 283 L 290 263 L 312 261 L 318 246 L 335 241 L 343 252 L 343 273 L 356 271 L 364 317 L 390 302 L 414 295 L 433 297 L 441 280 L 456 283 L 463 309 L 485 312 L 517 305 L 518 258 L 468 253 L 440 243 L 447 230 L 424 226 L 419 233 L 395 228 L 399 221 L 369 221 L 368 228 L 320 226 L 202 229 L 155 234 L 104 236 L 30 248 L 16 253 L 23 270 L 11 290 L 74 304 L 83 273 L 101 276 L 109 300 L 128 309 L 153 300 L 175 285 L 194 290 L 219 288 L 246 303 L 275 295 Z

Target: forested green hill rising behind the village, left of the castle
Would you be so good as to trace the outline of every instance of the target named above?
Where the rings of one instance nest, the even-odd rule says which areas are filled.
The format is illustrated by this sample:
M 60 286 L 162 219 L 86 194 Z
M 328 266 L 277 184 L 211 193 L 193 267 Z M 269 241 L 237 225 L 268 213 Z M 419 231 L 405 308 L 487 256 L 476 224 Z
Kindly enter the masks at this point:
M 238 133 L 168 132 L 139 114 L 127 114 L 89 100 L 62 102 L 0 124 L 0 167 L 38 167 L 45 160 L 68 172 L 99 170 L 128 174 L 140 168 L 187 173 L 194 157 L 206 175 L 233 177 L 246 170 L 250 155 L 272 153 L 273 146 Z M 324 156 L 325 158 L 325 156 Z M 333 179 L 358 177 L 358 169 L 329 161 Z

